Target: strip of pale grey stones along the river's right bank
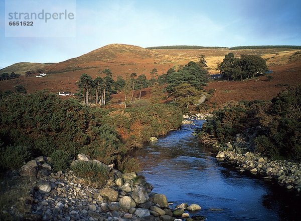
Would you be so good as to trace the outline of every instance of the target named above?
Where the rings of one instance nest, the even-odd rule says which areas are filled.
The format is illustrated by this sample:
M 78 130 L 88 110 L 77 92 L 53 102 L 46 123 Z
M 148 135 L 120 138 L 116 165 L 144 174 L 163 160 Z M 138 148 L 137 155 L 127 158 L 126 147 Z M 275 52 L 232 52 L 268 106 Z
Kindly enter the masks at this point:
M 264 179 L 275 179 L 287 190 L 301 191 L 301 164 L 289 160 L 271 160 L 254 153 L 251 143 L 245 142 L 241 134 L 237 134 L 235 142 L 213 144 L 219 152 L 216 155 L 218 160 L 227 160 L 237 165 L 240 172 L 250 171 L 253 174 L 261 174 Z

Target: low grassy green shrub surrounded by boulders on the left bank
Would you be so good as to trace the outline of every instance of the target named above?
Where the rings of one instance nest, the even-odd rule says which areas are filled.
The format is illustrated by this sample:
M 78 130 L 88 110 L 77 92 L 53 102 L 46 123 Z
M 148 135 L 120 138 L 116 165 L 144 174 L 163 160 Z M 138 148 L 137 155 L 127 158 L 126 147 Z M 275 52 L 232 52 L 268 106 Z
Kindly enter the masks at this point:
M 95 161 L 75 161 L 71 164 L 71 169 L 75 175 L 89 178 L 92 182 L 97 182 L 99 185 L 105 184 L 108 177 L 107 168 Z

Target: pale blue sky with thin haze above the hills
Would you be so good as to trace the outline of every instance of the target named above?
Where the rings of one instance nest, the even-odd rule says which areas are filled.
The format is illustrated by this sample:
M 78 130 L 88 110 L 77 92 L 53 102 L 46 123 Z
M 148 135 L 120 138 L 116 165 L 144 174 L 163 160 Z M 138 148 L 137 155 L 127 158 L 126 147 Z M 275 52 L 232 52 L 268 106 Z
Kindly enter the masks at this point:
M 300 0 L 77 0 L 76 36 L 65 38 L 5 37 L 5 13 L 0 0 L 1 68 L 60 62 L 113 43 L 301 45 Z

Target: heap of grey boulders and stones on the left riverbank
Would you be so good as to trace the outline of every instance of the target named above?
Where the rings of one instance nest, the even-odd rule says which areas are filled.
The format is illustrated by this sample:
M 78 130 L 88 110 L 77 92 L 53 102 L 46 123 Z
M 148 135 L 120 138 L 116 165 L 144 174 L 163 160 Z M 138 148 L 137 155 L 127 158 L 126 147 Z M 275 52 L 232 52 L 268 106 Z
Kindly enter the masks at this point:
M 72 170 L 52 172 L 50 161 L 50 158 L 38 157 L 12 177 L 29 181 L 27 184 L 31 187 L 26 197 L 22 195 L 22 199 L 14 202 L 21 201 L 28 209 L 20 211 L 20 206 L 13 203 L 2 208 L 2 217 L 11 215 L 19 220 L 67 221 L 205 220 L 203 216 L 190 218 L 189 211 L 201 209 L 199 205 L 172 205 L 164 194 L 152 192 L 152 184 L 134 172 L 122 173 L 113 165 L 106 166 L 93 160 L 109 172 L 106 184 L 100 188 L 97 183 L 76 176 Z M 73 163 L 81 161 L 92 162 L 89 156 L 79 154 Z

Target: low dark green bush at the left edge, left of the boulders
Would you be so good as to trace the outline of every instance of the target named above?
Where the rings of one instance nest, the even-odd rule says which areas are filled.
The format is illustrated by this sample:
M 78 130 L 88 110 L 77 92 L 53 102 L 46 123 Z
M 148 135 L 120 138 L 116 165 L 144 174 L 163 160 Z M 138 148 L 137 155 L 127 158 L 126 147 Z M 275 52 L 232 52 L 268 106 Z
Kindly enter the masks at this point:
M 31 156 L 30 149 L 21 145 L 9 145 L 1 148 L 0 167 L 4 169 L 20 169 Z

